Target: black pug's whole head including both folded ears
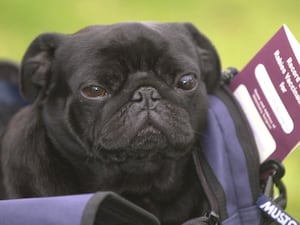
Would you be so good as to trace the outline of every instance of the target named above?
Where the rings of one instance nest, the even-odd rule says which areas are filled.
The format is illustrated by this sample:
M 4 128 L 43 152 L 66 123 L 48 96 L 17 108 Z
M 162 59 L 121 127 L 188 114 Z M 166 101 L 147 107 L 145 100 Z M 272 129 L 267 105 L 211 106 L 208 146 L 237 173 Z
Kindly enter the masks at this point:
M 40 35 L 21 89 L 65 154 L 143 162 L 190 151 L 219 76 L 215 49 L 193 25 L 122 23 Z

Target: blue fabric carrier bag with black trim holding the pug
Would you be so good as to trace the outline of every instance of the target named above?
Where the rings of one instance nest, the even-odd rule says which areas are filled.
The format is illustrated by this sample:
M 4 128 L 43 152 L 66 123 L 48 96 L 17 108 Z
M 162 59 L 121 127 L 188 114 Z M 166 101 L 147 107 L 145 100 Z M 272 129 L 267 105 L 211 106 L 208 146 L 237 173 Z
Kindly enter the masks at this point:
M 13 97 L 18 96 L 17 89 L 0 85 L 0 104 L 20 104 Z M 247 119 L 226 84 L 209 96 L 209 105 L 207 128 L 199 140 L 202 148 L 195 149 L 193 157 L 211 211 L 184 225 L 271 224 L 256 206 L 265 180 Z M 2 200 L 0 221 L 1 225 L 159 224 L 153 215 L 111 192 Z

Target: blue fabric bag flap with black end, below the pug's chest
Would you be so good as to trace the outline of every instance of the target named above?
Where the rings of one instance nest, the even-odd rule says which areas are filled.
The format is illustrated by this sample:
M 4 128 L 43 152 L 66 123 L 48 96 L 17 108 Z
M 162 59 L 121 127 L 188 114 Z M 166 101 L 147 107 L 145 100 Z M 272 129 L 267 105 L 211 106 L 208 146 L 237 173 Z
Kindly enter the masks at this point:
M 0 200 L 1 225 L 160 225 L 113 192 Z

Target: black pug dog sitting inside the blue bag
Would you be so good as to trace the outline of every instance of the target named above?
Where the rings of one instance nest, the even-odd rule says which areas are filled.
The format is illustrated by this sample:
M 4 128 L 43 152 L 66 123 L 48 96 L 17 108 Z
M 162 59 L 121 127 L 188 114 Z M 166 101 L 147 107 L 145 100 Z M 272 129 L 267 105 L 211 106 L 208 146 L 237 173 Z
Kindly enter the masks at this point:
M 33 103 L 2 141 L 9 198 L 114 191 L 181 224 L 209 211 L 194 168 L 220 62 L 189 23 L 46 33 L 21 64 Z

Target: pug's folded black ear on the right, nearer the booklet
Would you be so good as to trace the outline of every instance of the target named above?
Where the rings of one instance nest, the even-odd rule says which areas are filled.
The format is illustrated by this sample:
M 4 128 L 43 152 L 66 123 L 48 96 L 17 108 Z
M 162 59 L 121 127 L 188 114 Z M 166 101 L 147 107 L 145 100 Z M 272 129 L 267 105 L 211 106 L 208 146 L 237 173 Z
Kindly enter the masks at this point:
M 221 63 L 218 53 L 210 40 L 200 33 L 193 24 L 185 23 L 184 26 L 196 43 L 200 57 L 201 72 L 207 91 L 210 93 L 217 87 L 221 78 Z

